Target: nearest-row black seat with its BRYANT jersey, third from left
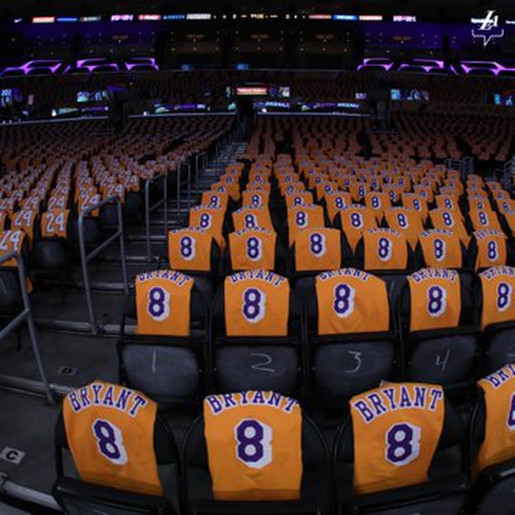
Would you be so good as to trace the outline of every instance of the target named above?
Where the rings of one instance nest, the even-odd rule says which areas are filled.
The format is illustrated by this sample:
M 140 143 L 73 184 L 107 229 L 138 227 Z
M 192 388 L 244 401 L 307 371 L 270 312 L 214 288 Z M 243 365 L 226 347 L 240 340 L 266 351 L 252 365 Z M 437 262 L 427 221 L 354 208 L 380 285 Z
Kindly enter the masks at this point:
M 468 488 L 464 433 L 441 393 L 434 385 L 386 383 L 350 401 L 354 416 L 363 413 L 369 424 L 379 424 L 371 430 L 384 435 L 367 446 L 369 428 L 354 425 L 353 415 L 339 429 L 333 451 L 336 513 L 459 512 Z M 367 462 L 374 478 L 367 475 Z

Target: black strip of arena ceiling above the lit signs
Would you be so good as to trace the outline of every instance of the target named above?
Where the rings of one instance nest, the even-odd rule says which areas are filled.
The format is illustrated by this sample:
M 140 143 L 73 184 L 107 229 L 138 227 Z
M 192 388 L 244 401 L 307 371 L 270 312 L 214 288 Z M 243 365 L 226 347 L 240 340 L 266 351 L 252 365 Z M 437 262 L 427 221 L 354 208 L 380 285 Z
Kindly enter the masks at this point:
M 501 16 L 515 16 L 513 0 L 2 0 L 0 16 L 52 14 L 113 14 L 119 12 L 343 12 L 369 14 L 418 14 L 426 19 L 466 19 L 485 9 L 496 9 Z

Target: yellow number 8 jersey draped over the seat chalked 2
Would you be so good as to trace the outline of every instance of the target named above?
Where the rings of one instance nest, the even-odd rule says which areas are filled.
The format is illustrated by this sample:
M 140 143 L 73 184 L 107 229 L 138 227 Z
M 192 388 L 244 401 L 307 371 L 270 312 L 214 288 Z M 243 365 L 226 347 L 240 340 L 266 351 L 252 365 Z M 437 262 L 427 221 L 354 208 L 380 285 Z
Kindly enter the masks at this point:
M 290 311 L 288 279 L 249 270 L 225 278 L 227 336 L 286 336 Z

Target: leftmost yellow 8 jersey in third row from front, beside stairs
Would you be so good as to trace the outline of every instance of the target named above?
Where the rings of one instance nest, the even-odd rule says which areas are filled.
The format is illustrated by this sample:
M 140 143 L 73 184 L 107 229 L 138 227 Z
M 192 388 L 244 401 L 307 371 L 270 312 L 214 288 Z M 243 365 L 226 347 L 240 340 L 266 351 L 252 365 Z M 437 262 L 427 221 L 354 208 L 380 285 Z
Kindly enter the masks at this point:
M 196 272 L 211 271 L 211 245 L 209 230 L 186 227 L 168 231 L 168 262 L 173 270 Z

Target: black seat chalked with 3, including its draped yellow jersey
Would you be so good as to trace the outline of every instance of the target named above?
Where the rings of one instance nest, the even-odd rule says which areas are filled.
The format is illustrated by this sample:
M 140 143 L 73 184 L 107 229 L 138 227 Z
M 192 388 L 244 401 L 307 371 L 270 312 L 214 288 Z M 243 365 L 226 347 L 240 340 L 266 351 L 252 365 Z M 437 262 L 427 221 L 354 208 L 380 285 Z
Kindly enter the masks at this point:
M 320 274 L 310 288 L 306 338 L 315 391 L 341 403 L 392 378 L 396 336 L 385 282 L 344 268 Z

